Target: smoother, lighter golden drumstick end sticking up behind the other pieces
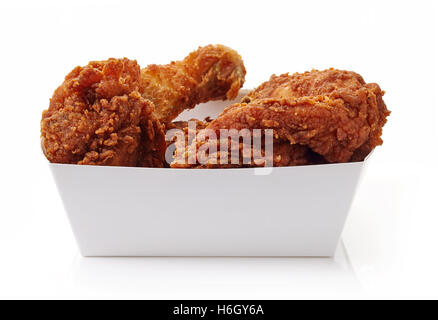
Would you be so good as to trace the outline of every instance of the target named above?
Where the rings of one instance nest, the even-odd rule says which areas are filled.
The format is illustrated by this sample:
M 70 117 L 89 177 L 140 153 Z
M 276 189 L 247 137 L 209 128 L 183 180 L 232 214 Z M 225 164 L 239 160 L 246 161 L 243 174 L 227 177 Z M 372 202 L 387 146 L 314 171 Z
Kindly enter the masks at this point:
M 236 51 L 223 45 L 208 45 L 182 61 L 142 69 L 140 92 L 155 104 L 158 119 L 167 124 L 199 103 L 235 98 L 245 74 Z

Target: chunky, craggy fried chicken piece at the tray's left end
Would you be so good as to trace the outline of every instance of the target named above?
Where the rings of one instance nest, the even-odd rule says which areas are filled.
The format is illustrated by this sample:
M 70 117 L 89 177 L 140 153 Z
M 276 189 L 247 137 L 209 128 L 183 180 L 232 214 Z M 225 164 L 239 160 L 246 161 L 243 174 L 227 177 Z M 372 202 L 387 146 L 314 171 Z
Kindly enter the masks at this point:
M 50 162 L 135 166 L 140 154 L 158 163 L 164 131 L 155 107 L 137 91 L 136 61 L 109 59 L 76 67 L 56 89 L 41 120 Z M 154 161 L 155 160 L 155 161 Z

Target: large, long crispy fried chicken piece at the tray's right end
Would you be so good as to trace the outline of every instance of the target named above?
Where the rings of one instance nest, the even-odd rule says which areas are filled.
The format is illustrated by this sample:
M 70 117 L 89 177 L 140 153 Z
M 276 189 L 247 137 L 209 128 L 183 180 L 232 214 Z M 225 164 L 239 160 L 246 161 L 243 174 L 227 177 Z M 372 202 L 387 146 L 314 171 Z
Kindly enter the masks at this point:
M 390 113 L 383 94 L 377 84 L 367 84 L 348 71 L 272 76 L 241 103 L 227 107 L 206 130 L 219 136 L 221 129 L 272 129 L 273 165 L 276 155 L 284 157 L 285 151 L 292 159 L 296 155 L 304 160 L 277 165 L 360 161 L 382 144 L 382 127 Z M 196 156 L 196 150 L 206 143 L 195 141 L 185 156 Z M 215 158 L 213 154 L 213 162 Z M 186 167 L 199 167 L 199 163 Z

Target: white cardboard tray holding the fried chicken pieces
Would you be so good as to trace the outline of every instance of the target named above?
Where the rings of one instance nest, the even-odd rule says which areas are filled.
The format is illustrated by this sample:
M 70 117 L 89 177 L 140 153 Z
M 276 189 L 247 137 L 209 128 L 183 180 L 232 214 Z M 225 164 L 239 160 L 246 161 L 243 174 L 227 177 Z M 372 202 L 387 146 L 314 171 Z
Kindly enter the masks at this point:
M 50 168 L 84 256 L 332 256 L 365 164 Z

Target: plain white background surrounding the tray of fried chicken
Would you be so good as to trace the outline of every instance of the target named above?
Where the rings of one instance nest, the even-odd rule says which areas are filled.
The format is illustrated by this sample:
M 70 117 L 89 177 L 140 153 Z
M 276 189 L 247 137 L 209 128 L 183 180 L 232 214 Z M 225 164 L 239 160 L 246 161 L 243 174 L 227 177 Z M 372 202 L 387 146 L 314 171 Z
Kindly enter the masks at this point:
M 0 11 L 0 298 L 438 298 L 434 1 L 18 1 Z M 82 258 L 39 146 L 76 65 L 236 49 L 245 87 L 336 67 L 392 111 L 334 259 Z M 171 205 L 171 204 L 169 204 Z

